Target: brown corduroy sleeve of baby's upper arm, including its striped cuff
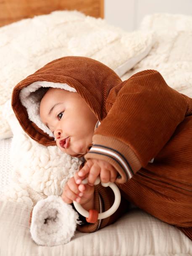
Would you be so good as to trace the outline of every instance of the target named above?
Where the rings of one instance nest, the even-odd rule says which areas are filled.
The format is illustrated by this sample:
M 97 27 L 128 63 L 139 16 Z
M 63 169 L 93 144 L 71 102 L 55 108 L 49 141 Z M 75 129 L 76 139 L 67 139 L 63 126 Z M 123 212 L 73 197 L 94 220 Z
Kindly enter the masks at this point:
M 186 111 L 186 97 L 169 87 L 158 71 L 134 74 L 124 81 L 84 158 L 109 162 L 121 175 L 119 182 L 126 182 L 155 158 Z

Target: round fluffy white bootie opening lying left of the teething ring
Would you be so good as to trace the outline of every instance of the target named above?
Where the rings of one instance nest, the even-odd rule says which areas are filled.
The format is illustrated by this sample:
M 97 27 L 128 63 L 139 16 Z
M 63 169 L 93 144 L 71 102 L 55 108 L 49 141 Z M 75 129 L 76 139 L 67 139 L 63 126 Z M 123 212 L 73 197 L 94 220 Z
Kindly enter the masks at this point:
M 30 232 L 38 245 L 68 243 L 74 236 L 79 215 L 60 196 L 50 195 L 37 202 L 32 211 Z

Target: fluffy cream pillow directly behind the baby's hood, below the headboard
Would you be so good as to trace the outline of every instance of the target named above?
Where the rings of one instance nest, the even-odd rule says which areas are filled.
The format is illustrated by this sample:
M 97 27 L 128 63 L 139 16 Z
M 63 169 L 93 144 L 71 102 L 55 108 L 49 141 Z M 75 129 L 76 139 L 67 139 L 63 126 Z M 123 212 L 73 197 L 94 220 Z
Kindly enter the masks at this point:
M 119 76 L 144 58 L 153 45 L 153 33 L 132 32 L 110 26 L 101 18 L 77 11 L 55 11 L 0 28 L 0 138 L 10 128 L 2 105 L 13 87 L 54 59 L 79 55 L 94 58 Z

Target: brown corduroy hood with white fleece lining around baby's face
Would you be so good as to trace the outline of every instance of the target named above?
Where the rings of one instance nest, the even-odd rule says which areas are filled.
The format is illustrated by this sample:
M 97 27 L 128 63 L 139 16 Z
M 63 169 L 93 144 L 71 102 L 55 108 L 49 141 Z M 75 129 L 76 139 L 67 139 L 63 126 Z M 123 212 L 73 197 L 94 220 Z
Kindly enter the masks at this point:
M 112 69 L 99 61 L 63 57 L 51 61 L 19 82 L 13 89 L 12 108 L 21 127 L 32 139 L 45 146 L 55 145 L 53 134 L 39 116 L 39 103 L 45 94 L 45 87 L 78 92 L 97 119 L 102 121 L 107 115 L 110 97 L 116 96 L 122 87 L 121 82 Z M 37 90 L 38 93 L 35 93 Z

